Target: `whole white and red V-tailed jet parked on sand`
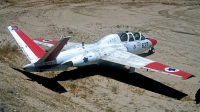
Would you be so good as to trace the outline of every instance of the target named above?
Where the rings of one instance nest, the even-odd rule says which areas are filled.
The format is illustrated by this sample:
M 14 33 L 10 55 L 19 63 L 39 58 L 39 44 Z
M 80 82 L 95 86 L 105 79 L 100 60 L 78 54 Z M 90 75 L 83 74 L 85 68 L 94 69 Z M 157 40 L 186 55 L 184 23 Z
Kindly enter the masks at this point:
M 68 42 L 70 36 L 62 35 L 59 41 L 49 39 L 31 39 L 17 26 L 8 26 L 8 30 L 17 41 L 30 61 L 23 66 L 27 72 L 66 71 L 69 67 L 99 64 L 103 61 L 135 68 L 147 69 L 163 74 L 182 77 L 183 80 L 194 75 L 162 63 L 141 57 L 137 54 L 149 50 L 154 53 L 157 40 L 145 38 L 140 32 L 122 32 L 109 34 L 93 44 Z M 39 45 L 50 47 L 43 50 Z

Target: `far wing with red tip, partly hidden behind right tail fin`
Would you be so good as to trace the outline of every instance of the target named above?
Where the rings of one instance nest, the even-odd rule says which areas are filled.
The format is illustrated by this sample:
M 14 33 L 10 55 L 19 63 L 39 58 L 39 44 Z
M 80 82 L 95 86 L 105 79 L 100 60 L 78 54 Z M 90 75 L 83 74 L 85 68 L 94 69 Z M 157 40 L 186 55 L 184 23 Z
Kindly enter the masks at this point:
M 42 38 L 33 39 L 33 41 L 36 44 L 44 45 L 44 46 L 48 46 L 48 47 L 52 47 L 58 42 L 57 40 L 42 39 Z M 81 45 L 80 43 L 68 42 L 67 46 L 64 46 L 63 49 L 68 50 L 68 49 L 71 49 L 71 48 L 74 48 L 74 47 L 80 46 L 80 45 Z

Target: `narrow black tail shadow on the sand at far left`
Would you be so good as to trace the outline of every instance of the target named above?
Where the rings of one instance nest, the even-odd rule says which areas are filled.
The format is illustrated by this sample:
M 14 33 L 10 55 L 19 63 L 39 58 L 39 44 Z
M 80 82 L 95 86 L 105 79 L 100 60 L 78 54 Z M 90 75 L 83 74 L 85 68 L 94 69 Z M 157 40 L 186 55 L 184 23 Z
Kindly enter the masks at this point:
M 30 72 L 26 72 L 26 71 L 22 71 L 20 69 L 17 68 L 13 68 L 14 70 L 21 72 L 22 74 L 24 74 L 25 76 L 27 76 L 28 78 L 30 78 L 30 81 L 36 81 L 38 84 L 41 84 L 42 86 L 57 92 L 57 93 L 64 93 L 67 92 L 65 90 L 64 87 L 62 87 L 57 80 L 54 80 L 53 78 L 46 78 L 46 77 L 42 77 L 42 76 L 38 76 L 36 74 L 30 73 Z

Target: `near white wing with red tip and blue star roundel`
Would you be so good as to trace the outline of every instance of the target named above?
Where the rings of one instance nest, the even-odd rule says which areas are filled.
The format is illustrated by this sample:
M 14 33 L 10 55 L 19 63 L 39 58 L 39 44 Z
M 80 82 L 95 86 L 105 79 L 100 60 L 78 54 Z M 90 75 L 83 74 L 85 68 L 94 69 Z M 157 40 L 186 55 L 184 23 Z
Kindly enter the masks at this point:
M 143 58 L 141 56 L 125 51 L 114 51 L 110 55 L 102 57 L 101 59 L 134 68 L 145 68 L 155 72 L 182 77 L 183 80 L 193 76 L 192 74 L 186 73 L 176 68 L 172 68 L 159 62 L 155 62 L 153 60 Z

